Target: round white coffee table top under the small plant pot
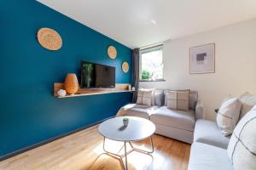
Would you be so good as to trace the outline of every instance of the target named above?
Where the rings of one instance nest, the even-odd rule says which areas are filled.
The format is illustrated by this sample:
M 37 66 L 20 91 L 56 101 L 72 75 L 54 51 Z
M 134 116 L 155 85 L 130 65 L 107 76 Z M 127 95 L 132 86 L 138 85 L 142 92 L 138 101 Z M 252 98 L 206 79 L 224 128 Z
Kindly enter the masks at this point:
M 124 127 L 124 116 L 114 117 L 102 122 L 98 128 L 102 136 L 117 141 L 135 141 L 146 139 L 155 131 L 153 122 L 136 116 L 125 116 L 129 118 L 129 124 Z

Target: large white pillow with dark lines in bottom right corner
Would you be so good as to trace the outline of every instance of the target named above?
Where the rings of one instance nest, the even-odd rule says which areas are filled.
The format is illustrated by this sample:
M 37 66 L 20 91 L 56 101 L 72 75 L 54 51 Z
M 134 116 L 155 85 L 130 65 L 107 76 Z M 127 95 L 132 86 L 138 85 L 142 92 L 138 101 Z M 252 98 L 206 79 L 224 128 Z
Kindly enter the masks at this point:
M 256 169 L 256 105 L 238 122 L 228 146 L 236 170 Z

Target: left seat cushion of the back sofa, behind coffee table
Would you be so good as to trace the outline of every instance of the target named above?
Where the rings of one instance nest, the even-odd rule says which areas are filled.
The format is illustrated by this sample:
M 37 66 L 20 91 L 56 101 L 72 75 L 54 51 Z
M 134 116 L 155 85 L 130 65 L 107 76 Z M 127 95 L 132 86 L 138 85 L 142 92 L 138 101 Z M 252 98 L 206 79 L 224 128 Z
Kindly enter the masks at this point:
M 125 110 L 124 116 L 138 116 L 145 119 L 149 119 L 151 114 L 154 114 L 159 108 L 158 105 L 146 106 L 146 105 L 134 105 L 133 107 Z

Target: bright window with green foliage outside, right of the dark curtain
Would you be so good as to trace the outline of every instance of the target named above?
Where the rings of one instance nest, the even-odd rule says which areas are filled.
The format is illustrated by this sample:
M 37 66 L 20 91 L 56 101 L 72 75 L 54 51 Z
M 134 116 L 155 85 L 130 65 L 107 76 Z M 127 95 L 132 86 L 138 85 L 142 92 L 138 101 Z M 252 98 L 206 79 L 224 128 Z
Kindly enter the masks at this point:
M 140 81 L 162 81 L 163 46 L 140 50 Z

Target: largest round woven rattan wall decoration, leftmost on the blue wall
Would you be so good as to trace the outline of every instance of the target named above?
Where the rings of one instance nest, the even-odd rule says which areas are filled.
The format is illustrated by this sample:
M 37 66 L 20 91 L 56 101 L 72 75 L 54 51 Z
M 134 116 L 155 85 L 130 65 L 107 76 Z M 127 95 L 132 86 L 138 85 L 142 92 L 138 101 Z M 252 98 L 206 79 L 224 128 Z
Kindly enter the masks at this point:
M 50 28 L 41 28 L 38 30 L 38 42 L 42 47 L 49 50 L 58 50 L 62 46 L 60 34 Z

